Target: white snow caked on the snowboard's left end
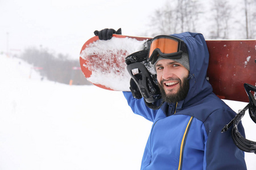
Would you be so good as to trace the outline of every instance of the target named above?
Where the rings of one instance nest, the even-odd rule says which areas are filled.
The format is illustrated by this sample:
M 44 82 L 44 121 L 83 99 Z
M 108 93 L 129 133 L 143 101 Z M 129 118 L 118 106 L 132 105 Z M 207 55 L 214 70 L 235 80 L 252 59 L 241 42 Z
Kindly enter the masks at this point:
M 113 37 L 111 40 L 108 41 L 108 43 L 106 43 L 106 41 L 95 41 L 89 44 L 88 48 L 82 50 L 81 57 L 86 61 L 89 61 L 87 65 L 94 65 L 94 67 L 96 65 L 97 70 L 92 70 L 90 67 L 88 68 L 84 65 L 86 68 L 92 71 L 92 75 L 90 75 L 88 80 L 94 84 L 105 84 L 106 87 L 114 90 L 118 89 L 121 91 L 130 91 L 130 75 L 126 71 L 126 64 L 124 62 L 125 57 L 131 53 L 142 50 L 143 42 L 145 41 L 146 40 L 138 41 L 128 37 L 123 39 Z M 122 51 L 123 53 L 120 54 L 120 51 Z M 96 54 L 95 52 L 98 52 L 97 55 L 101 57 L 94 57 L 94 55 Z M 113 58 L 112 53 L 119 53 L 117 61 L 120 62 L 114 62 L 116 58 Z M 109 65 L 105 65 L 105 63 L 112 63 L 113 69 L 108 69 Z M 108 79 L 108 84 L 103 83 L 106 82 L 106 79 Z

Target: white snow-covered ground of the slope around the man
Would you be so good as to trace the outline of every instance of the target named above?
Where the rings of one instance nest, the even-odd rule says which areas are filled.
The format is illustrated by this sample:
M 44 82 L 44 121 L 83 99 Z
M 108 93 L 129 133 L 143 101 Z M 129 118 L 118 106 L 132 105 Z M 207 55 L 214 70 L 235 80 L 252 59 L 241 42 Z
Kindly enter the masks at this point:
M 238 111 L 246 103 L 226 101 Z M 256 125 L 242 119 L 247 139 Z M 0 55 L 0 169 L 139 169 L 151 122 L 122 92 L 49 82 Z M 248 169 L 256 155 L 246 153 Z

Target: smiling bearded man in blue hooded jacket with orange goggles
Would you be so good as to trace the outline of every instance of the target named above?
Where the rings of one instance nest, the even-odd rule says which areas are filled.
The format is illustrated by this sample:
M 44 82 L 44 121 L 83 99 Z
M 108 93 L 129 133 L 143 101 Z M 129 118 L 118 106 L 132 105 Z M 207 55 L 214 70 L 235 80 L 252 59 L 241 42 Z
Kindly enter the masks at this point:
M 166 44 L 173 48 L 175 43 L 168 42 L 172 40 L 178 41 L 176 50 L 165 50 Z M 203 35 L 155 37 L 148 61 L 155 66 L 164 100 L 160 109 L 150 109 L 143 99 L 123 92 L 133 112 L 153 122 L 141 169 L 246 169 L 244 153 L 232 141 L 231 131 L 221 133 L 236 113 L 212 92 Z M 241 124 L 239 129 L 245 135 Z

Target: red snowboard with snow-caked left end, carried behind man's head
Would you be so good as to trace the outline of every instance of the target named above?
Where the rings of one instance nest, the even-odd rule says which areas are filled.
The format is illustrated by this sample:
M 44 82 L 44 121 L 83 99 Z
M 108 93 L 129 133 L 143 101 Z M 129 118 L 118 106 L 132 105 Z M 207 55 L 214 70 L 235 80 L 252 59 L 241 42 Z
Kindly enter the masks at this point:
M 143 49 L 150 37 L 113 35 L 108 41 L 94 36 L 82 46 L 80 66 L 95 86 L 113 91 L 130 91 L 125 58 Z M 207 77 L 220 99 L 248 102 L 243 83 L 256 84 L 256 40 L 207 40 Z M 148 70 L 151 72 L 150 68 Z

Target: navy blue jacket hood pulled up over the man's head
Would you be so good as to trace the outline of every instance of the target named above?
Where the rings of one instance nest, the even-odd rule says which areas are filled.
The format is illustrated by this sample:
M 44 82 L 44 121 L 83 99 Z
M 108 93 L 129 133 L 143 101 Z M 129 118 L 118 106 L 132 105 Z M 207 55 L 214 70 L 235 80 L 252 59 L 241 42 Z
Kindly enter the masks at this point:
M 189 91 L 187 97 L 180 101 L 177 108 L 188 107 L 212 93 L 212 86 L 207 80 L 209 52 L 201 33 L 184 32 L 173 34 L 185 42 L 189 57 Z

